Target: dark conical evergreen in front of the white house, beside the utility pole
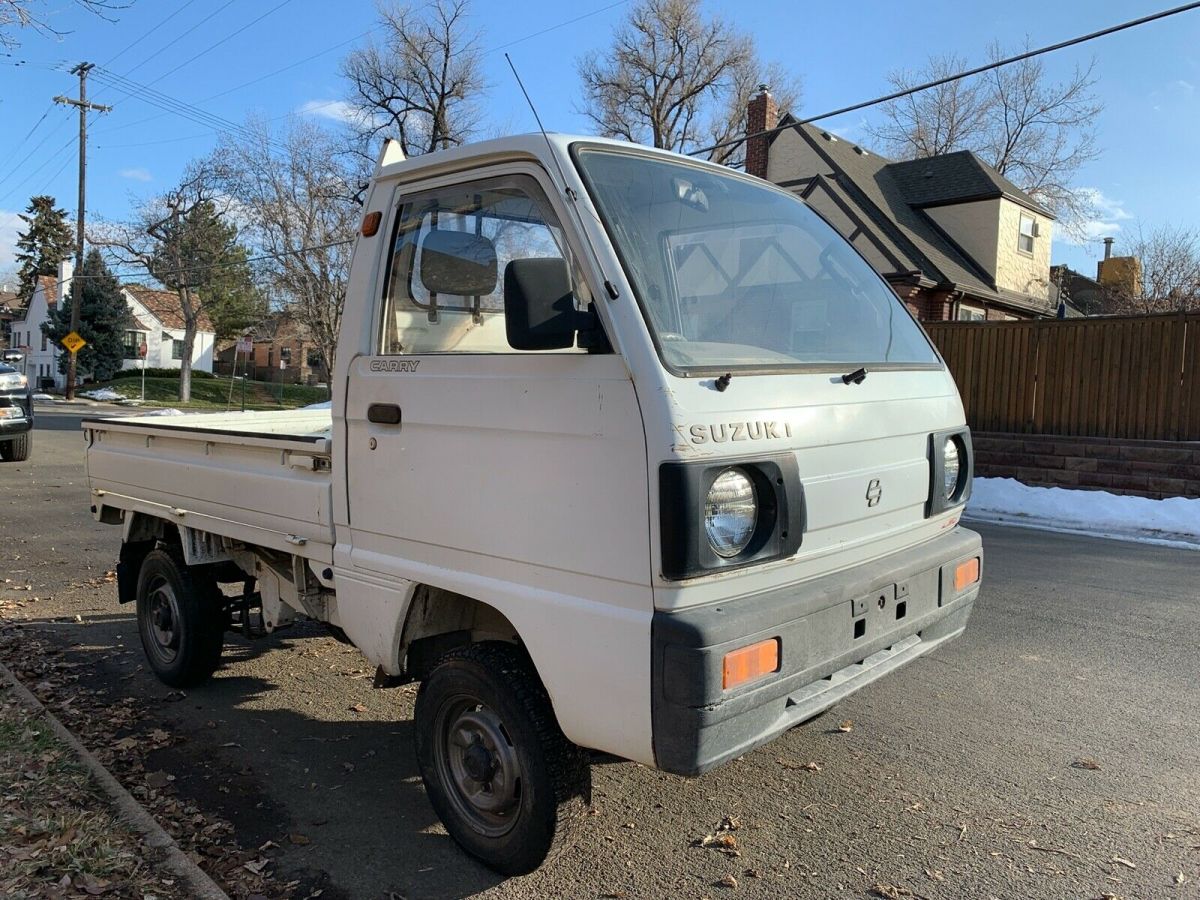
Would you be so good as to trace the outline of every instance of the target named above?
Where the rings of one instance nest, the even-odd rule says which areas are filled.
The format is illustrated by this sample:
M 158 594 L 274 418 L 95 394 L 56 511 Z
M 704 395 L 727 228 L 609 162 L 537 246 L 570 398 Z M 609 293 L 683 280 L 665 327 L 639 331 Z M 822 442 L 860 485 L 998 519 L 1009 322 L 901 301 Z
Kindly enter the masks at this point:
M 71 282 L 71 294 L 58 310 L 50 312 L 50 323 L 43 325 L 47 337 L 55 343 L 71 331 L 71 306 L 79 302 L 79 336 L 88 346 L 79 350 L 78 371 L 90 372 L 96 380 L 107 382 L 121 368 L 125 359 L 125 332 L 134 328 L 121 287 L 98 250 L 89 251 L 83 269 Z M 67 354 L 59 358 L 59 368 L 66 371 Z

